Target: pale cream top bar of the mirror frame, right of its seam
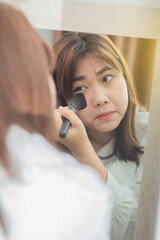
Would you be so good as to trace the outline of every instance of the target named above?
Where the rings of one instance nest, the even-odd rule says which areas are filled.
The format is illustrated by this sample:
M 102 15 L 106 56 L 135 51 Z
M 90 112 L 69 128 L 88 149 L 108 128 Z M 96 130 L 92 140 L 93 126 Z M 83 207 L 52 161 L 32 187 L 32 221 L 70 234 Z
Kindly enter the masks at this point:
M 62 30 L 160 38 L 160 8 L 64 1 Z

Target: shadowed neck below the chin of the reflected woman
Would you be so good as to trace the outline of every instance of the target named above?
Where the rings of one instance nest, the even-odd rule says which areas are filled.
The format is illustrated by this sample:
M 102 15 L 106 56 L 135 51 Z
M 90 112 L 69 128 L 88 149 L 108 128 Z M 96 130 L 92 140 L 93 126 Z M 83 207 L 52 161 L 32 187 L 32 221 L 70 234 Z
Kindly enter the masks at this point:
M 93 131 L 92 129 L 86 129 L 86 131 L 88 134 L 88 138 L 96 152 L 100 150 L 109 141 L 111 141 L 112 138 L 116 135 L 116 130 L 107 133 Z

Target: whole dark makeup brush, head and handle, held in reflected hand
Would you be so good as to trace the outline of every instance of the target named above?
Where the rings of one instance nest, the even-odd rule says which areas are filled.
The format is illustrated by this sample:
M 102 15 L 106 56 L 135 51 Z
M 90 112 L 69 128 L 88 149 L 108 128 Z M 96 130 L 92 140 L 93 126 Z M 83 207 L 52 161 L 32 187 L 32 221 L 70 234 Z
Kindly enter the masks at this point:
M 69 101 L 68 108 L 76 112 L 77 110 L 84 109 L 87 106 L 86 99 L 82 93 L 74 94 Z M 71 122 L 64 118 L 59 136 L 65 138 L 69 129 Z

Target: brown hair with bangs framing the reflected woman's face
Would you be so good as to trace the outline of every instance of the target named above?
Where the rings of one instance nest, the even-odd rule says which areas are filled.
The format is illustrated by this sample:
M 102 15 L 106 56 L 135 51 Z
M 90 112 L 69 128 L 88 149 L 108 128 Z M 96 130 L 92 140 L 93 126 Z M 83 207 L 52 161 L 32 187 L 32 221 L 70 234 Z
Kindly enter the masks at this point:
M 135 131 L 135 111 L 138 105 L 136 89 L 125 59 L 111 39 L 99 34 L 67 33 L 55 43 L 53 52 L 57 58 L 53 76 L 63 104 L 66 104 L 72 94 L 74 71 L 80 58 L 86 55 L 95 56 L 122 72 L 126 80 L 129 103 L 117 130 L 114 152 L 108 157 L 117 154 L 120 159 L 138 164 L 138 155 L 143 151 Z

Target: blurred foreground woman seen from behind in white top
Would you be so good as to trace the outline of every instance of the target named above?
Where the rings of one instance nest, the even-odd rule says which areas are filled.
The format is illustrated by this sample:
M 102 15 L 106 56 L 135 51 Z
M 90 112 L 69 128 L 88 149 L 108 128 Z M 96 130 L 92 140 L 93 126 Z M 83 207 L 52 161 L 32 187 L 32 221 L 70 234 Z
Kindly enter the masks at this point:
M 0 29 L 0 239 L 109 239 L 104 182 L 55 148 L 48 46 L 3 3 Z

